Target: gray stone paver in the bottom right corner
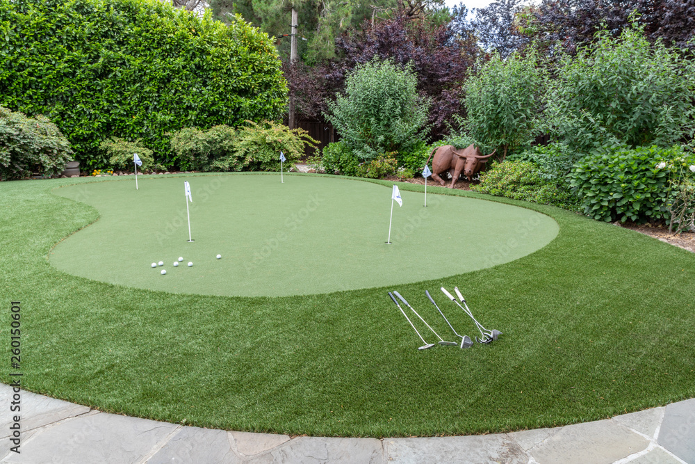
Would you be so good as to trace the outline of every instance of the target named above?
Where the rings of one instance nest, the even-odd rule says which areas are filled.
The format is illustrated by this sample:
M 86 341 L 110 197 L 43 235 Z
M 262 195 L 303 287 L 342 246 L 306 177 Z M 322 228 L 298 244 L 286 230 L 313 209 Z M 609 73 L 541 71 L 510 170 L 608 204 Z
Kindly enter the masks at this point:
M 666 407 L 659 431 L 659 445 L 686 463 L 695 463 L 695 399 Z

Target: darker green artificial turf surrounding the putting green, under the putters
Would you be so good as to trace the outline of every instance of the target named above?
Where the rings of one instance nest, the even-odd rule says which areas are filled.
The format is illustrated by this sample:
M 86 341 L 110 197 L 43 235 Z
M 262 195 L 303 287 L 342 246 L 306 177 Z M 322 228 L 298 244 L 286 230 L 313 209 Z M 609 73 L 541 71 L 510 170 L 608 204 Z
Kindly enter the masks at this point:
M 10 301 L 21 301 L 28 390 L 182 424 L 376 437 L 554 426 L 695 396 L 695 257 L 637 232 L 501 200 L 548 214 L 557 237 L 506 264 L 389 288 L 167 294 L 49 264 L 56 242 L 98 218 L 94 207 L 51 191 L 83 182 L 0 183 L 0 337 L 9 360 Z M 438 249 L 411 260 L 441 267 L 458 258 Z M 468 350 L 418 351 L 386 291 L 398 289 L 448 335 L 423 295 L 430 290 L 459 333 L 472 336 L 470 321 L 435 291 L 454 285 L 504 335 Z M 9 371 L 6 362 L 5 383 Z

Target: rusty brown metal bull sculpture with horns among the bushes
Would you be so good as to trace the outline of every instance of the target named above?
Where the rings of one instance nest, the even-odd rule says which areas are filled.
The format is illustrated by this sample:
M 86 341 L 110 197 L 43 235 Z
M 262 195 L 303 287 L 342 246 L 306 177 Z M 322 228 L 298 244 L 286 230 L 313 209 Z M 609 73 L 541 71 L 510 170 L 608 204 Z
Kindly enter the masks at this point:
M 459 180 L 461 173 L 468 177 L 468 181 L 473 180 L 473 175 L 480 172 L 487 160 L 496 151 L 494 150 L 491 154 L 483 155 L 480 149 L 473 143 L 460 150 L 457 150 L 454 145 L 442 145 L 432 150 L 430 157 L 427 158 L 427 164 L 430 163 L 430 158 L 434 154 L 434 159 L 432 159 L 432 179 L 444 185 L 445 182 L 439 175 L 448 170 L 451 175 L 449 188 L 452 189 L 457 180 Z

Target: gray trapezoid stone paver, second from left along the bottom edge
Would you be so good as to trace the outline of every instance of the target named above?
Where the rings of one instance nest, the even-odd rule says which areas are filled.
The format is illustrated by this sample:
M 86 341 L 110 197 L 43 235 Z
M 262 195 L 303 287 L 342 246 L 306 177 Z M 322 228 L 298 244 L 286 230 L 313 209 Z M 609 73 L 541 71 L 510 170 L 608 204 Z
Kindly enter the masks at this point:
M 147 464 L 240 462 L 241 459 L 231 449 L 229 432 L 198 427 L 182 427 L 154 456 L 147 459 Z

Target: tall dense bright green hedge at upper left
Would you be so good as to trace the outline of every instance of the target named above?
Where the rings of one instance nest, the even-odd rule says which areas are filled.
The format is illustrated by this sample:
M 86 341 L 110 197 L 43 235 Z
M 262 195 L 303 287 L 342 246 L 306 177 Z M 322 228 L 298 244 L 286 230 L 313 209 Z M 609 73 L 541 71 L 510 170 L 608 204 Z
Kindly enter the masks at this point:
M 101 141 L 142 139 L 172 166 L 167 132 L 278 118 L 287 87 L 270 38 L 156 0 L 0 0 L 0 104 L 44 114 L 85 167 Z

